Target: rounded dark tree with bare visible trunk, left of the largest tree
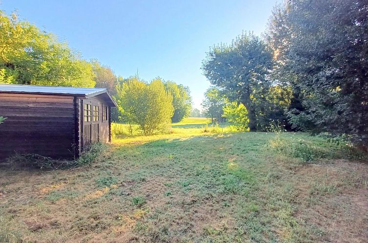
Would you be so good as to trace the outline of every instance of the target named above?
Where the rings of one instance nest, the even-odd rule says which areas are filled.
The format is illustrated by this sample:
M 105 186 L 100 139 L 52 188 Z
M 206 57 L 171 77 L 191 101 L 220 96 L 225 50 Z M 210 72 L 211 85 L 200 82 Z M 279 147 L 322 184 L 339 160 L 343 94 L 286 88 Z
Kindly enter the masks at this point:
M 250 131 L 257 130 L 255 101 L 264 99 L 271 82 L 272 52 L 253 34 L 242 34 L 231 44 L 210 48 L 203 61 L 204 76 L 231 101 L 241 102 L 249 118 Z

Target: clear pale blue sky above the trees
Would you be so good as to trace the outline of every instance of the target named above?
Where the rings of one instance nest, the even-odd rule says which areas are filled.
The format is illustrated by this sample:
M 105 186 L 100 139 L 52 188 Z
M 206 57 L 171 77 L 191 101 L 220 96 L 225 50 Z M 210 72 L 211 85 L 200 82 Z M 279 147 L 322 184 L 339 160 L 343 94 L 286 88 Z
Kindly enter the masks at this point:
M 261 34 L 276 0 L 0 0 L 0 9 L 56 34 L 127 78 L 160 76 L 189 86 L 201 108 L 210 85 L 201 63 L 209 46 L 242 31 Z M 280 0 L 278 1 L 280 2 Z

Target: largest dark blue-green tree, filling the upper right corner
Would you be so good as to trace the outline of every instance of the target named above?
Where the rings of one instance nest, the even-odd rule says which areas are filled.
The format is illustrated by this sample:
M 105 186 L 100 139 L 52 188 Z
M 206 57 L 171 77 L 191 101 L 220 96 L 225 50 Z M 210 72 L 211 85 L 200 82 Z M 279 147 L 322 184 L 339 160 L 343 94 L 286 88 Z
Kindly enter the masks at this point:
M 288 112 L 295 127 L 368 139 L 367 0 L 286 1 L 268 41 L 300 94 L 301 107 Z

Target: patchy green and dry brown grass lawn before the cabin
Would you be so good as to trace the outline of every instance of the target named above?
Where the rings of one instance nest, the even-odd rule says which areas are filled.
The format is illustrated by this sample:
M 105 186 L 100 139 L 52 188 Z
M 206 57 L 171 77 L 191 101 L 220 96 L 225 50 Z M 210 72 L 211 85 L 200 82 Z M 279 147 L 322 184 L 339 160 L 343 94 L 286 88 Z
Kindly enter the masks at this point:
M 301 133 L 115 138 L 91 167 L 0 167 L 0 242 L 355 242 L 368 164 Z

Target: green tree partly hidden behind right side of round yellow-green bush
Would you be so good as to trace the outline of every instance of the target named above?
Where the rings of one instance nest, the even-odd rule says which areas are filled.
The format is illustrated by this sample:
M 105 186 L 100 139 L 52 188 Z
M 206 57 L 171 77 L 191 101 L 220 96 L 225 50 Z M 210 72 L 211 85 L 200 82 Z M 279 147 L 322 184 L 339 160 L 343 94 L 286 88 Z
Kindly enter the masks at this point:
M 174 114 L 171 121 L 179 122 L 184 117 L 189 116 L 192 109 L 192 97 L 189 88 L 173 81 L 166 81 L 164 84 L 166 90 L 173 96 Z

